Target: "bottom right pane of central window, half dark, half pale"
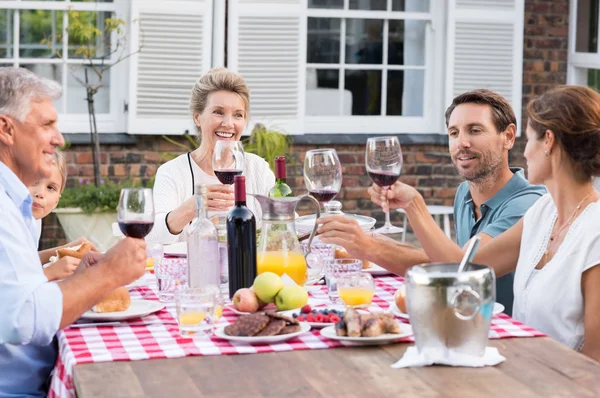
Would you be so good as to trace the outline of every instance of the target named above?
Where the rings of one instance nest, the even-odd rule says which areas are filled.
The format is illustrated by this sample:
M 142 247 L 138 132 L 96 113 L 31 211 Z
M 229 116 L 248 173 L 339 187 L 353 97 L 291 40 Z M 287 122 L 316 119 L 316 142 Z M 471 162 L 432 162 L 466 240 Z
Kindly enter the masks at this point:
M 386 115 L 423 116 L 425 71 L 390 70 L 387 90 Z

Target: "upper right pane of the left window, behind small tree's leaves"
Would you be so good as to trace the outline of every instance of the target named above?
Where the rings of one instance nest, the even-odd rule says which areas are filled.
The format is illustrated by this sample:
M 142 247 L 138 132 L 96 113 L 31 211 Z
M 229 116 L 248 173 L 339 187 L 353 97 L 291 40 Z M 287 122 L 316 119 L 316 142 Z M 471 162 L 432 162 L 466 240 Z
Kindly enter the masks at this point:
M 69 58 L 100 58 L 110 54 L 110 35 L 105 32 L 105 20 L 111 18 L 110 12 L 77 11 L 69 12 Z M 81 28 L 79 28 L 81 27 Z M 98 29 L 101 35 L 87 35 Z

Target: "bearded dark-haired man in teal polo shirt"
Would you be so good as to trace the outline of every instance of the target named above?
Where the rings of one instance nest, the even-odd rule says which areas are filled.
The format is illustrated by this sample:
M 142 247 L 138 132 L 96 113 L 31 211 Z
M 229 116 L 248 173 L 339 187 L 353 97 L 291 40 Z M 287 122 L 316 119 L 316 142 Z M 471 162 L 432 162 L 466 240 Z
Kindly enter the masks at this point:
M 457 243 L 435 223 L 419 192 L 401 182 L 387 191 L 390 208 L 402 208 L 423 250 L 381 236 L 368 236 L 357 225 L 339 217 L 324 217 L 321 240 L 346 248 L 351 256 L 372 261 L 404 274 L 415 264 L 454 262 L 467 241 L 477 235 L 485 245 L 515 224 L 546 191 L 530 185 L 522 169 L 510 168 L 508 151 L 516 137 L 517 120 L 510 104 L 489 90 L 475 90 L 454 98 L 446 111 L 452 162 L 465 178 L 454 200 Z M 371 200 L 383 206 L 385 194 L 369 188 Z M 513 275 L 497 280 L 496 296 L 512 313 Z

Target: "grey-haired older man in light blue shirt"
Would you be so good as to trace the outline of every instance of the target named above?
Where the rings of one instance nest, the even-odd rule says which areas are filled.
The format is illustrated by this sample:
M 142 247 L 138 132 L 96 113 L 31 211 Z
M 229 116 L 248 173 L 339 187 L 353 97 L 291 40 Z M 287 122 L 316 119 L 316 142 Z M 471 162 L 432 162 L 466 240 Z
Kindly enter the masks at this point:
M 117 287 L 143 275 L 143 240 L 88 254 L 74 275 L 48 282 L 37 254 L 27 186 L 52 171 L 64 139 L 52 101 L 58 84 L 23 68 L 0 68 L 0 397 L 46 396 L 58 330 Z

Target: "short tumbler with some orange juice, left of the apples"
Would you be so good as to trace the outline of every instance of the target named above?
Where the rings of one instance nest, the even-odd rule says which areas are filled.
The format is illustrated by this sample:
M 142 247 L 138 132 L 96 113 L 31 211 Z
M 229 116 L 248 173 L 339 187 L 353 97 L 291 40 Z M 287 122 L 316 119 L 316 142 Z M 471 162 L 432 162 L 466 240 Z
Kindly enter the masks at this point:
M 217 288 L 218 289 L 218 288 Z M 181 337 L 210 336 L 214 328 L 215 292 L 212 289 L 182 288 L 175 295 Z

